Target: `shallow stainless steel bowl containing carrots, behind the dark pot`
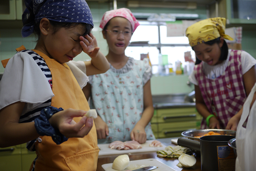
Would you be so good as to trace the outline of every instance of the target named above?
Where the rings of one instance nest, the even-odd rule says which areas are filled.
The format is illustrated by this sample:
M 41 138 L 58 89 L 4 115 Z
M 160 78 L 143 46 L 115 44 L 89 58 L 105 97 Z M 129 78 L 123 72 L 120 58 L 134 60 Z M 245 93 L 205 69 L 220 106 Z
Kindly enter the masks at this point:
M 219 129 L 205 129 L 205 130 L 187 130 L 181 133 L 184 138 L 191 139 L 191 140 L 197 140 L 200 141 L 199 138 L 195 136 L 202 136 L 205 135 L 206 133 L 213 131 L 215 133 L 219 133 L 220 135 L 236 135 L 235 130 L 219 130 Z

